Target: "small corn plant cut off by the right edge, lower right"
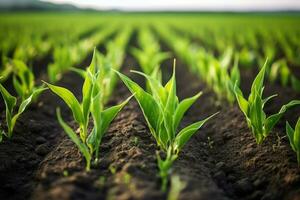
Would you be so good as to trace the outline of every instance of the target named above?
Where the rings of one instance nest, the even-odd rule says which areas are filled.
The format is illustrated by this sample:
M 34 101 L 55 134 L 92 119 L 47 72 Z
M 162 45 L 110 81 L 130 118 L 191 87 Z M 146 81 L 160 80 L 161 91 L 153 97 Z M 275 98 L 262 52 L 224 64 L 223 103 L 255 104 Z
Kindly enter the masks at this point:
M 286 134 L 289 138 L 290 145 L 297 155 L 298 166 L 300 167 L 300 117 L 298 118 L 295 129 L 286 122 Z

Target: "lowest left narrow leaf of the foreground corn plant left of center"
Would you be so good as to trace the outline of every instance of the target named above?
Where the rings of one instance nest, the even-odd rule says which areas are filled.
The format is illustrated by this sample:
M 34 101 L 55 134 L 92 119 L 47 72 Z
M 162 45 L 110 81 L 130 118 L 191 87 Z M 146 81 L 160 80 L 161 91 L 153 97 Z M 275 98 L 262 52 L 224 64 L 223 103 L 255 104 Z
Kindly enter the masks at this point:
M 62 119 L 61 114 L 60 114 L 60 109 L 58 108 L 56 110 L 56 115 L 58 122 L 64 129 L 65 133 L 69 136 L 69 138 L 75 143 L 75 145 L 78 147 L 80 152 L 83 154 L 83 156 L 86 159 L 87 162 L 87 170 L 90 168 L 90 160 L 91 160 L 91 154 L 89 153 L 88 147 L 81 142 L 80 138 L 76 135 L 76 133 L 72 130 L 70 126 L 68 126 Z

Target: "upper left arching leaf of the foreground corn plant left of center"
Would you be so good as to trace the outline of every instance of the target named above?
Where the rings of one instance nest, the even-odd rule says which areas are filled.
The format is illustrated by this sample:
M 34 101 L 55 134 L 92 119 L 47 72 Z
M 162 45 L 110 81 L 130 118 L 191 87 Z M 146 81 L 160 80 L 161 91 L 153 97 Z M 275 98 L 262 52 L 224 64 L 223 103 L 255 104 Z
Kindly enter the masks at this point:
M 66 88 L 55 86 L 50 83 L 46 83 L 46 84 L 52 92 L 54 92 L 64 100 L 67 106 L 72 110 L 74 119 L 78 123 L 83 123 L 84 119 L 83 119 L 83 113 L 81 111 L 81 106 L 78 100 L 76 99 L 76 97 L 74 96 L 74 94 Z

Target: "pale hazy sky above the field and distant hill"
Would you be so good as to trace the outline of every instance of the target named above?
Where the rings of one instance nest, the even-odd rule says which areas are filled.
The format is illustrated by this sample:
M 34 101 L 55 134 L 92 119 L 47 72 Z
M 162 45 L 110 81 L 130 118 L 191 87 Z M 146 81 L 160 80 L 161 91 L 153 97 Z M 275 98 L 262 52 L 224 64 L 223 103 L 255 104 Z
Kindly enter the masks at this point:
M 300 10 L 300 0 L 45 0 L 122 10 Z

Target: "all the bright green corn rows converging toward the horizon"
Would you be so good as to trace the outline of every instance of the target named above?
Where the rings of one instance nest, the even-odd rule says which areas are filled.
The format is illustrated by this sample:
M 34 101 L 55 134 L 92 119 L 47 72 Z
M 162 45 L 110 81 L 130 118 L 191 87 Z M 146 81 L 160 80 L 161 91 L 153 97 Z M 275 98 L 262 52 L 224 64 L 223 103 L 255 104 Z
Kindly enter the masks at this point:
M 38 97 L 43 91 L 50 89 L 72 111 L 77 130 L 63 120 L 59 108 L 57 109 L 57 119 L 64 132 L 84 156 L 86 170 L 89 171 L 93 164 L 99 162 L 99 147 L 110 123 L 134 97 L 142 110 L 158 149 L 163 152 L 162 155 L 157 154 L 157 162 L 162 179 L 162 190 L 166 191 L 171 167 L 180 155 L 180 151 L 208 120 L 213 120 L 211 118 L 217 113 L 210 113 L 209 117 L 178 130 L 185 113 L 198 100 L 202 92 L 199 91 L 193 97 L 179 100 L 176 91 L 175 61 L 171 78 L 166 84 L 163 84 L 164 73 L 160 65 L 171 54 L 162 52 L 160 42 L 148 26 L 139 26 L 139 48 L 130 49 L 143 71 L 133 72 L 145 78 L 146 87 L 141 87 L 139 83 L 122 74 L 120 67 L 126 56 L 133 29 L 127 27 L 116 33 L 117 25 L 107 25 L 102 31 L 95 32 L 88 38 L 78 39 L 76 43 L 68 42 L 65 46 L 54 47 L 53 62 L 48 66 L 48 79 L 44 84 L 36 83 L 37 78 L 32 69 L 27 66 L 27 59 L 21 61 L 20 58 L 17 59 L 13 56 L 11 60 L 2 65 L 4 67 L 2 72 L 7 70 L 5 67 L 12 67 L 11 73 L 2 73 L 2 78 L 3 80 L 12 78 L 12 85 L 17 95 L 12 95 L 3 84 L 0 84 L 0 92 L 6 107 L 6 127 L 0 132 L 0 141 L 13 136 L 14 126 L 20 115 L 32 102 L 38 101 Z M 171 29 L 168 29 L 167 26 L 154 26 L 154 29 L 162 41 L 186 63 L 189 70 L 197 74 L 216 93 L 217 103 L 224 103 L 225 100 L 229 102 L 230 106 L 238 104 L 257 144 L 261 144 L 266 139 L 288 109 L 300 104 L 300 100 L 290 101 L 282 105 L 277 113 L 267 116 L 264 111 L 265 104 L 275 97 L 275 95 L 263 97 L 265 74 L 272 74 L 272 70 L 270 71 L 269 68 L 274 68 L 268 65 L 267 61 L 254 79 L 249 97 L 245 98 L 240 89 L 240 55 L 236 53 L 234 46 L 226 49 L 217 47 L 222 54 L 219 58 L 203 47 L 192 46 L 188 38 L 180 37 L 170 31 Z M 95 44 L 104 42 L 115 33 L 114 39 L 106 42 L 105 54 L 94 49 L 89 67 L 86 69 L 74 68 L 87 57 Z M 5 54 L 5 56 L 9 56 L 9 54 Z M 70 70 L 75 71 L 84 79 L 82 99 L 76 98 L 70 90 L 56 85 L 57 81 L 63 78 L 63 73 Z M 111 97 L 118 79 L 127 86 L 132 96 L 118 105 L 107 108 L 106 103 Z M 300 164 L 300 118 L 294 129 L 286 122 L 286 132 L 291 148 L 296 152 Z

